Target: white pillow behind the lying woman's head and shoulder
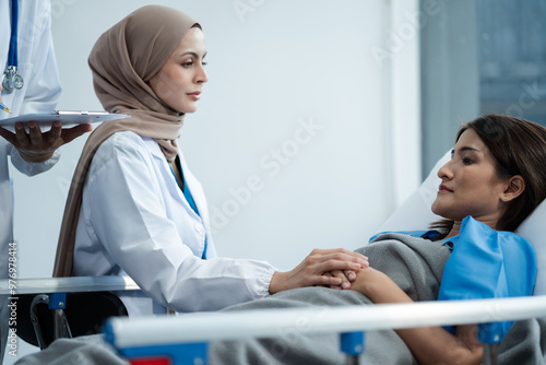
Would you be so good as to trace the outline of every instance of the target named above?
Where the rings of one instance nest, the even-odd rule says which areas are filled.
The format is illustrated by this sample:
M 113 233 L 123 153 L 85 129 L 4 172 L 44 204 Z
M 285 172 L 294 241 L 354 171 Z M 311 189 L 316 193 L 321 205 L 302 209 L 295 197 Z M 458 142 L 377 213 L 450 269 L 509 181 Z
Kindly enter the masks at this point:
M 451 158 L 448 151 L 432 167 L 417 190 L 380 226 L 378 232 L 428 229 L 442 217 L 430 210 L 438 192 L 438 170 Z M 546 200 L 515 231 L 533 245 L 536 252 L 536 284 L 533 295 L 546 295 Z

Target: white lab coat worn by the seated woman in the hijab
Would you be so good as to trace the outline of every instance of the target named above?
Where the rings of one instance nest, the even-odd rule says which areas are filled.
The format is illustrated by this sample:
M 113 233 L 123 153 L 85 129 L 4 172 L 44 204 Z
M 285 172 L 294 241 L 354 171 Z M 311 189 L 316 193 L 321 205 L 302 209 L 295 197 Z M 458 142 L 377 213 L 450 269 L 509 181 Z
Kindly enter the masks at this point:
M 129 274 L 152 297 L 121 295 L 129 315 L 216 310 L 269 295 L 276 271 L 256 260 L 217 258 L 201 185 L 181 154 L 188 204 L 158 144 L 118 132 L 97 150 L 83 188 L 74 274 Z M 202 260 L 204 243 L 206 260 Z

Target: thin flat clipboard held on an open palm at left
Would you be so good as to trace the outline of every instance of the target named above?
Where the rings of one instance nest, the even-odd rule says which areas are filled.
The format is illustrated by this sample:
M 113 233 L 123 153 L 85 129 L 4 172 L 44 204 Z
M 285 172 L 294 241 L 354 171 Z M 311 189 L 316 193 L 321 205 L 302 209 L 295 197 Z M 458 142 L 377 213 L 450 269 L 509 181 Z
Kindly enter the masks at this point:
M 75 125 L 95 123 L 128 117 L 129 116 L 124 114 L 111 114 L 106 111 L 56 110 L 52 113 L 26 114 L 17 117 L 0 119 L 0 127 L 14 131 L 16 122 L 21 121 L 26 123 L 27 121 L 35 120 L 38 122 L 41 131 L 47 131 L 51 128 L 51 123 L 55 120 L 59 120 L 62 123 L 62 128 L 67 128 Z

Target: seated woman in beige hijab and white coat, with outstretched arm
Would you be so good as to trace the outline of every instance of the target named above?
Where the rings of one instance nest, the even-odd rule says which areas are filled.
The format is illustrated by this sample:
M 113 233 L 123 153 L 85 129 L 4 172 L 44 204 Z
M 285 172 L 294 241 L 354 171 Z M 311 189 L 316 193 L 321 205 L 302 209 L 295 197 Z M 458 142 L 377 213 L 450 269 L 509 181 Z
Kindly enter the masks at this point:
M 205 54 L 201 26 L 161 5 L 99 37 L 88 59 L 95 92 L 106 110 L 130 118 L 103 123 L 84 146 L 54 274 L 128 274 L 143 292 L 119 294 L 130 316 L 216 310 L 299 286 L 349 287 L 353 270 L 368 262 L 345 249 L 316 249 L 288 272 L 216 257 L 204 193 L 176 144 L 207 81 Z M 324 274 L 332 270 L 345 274 Z

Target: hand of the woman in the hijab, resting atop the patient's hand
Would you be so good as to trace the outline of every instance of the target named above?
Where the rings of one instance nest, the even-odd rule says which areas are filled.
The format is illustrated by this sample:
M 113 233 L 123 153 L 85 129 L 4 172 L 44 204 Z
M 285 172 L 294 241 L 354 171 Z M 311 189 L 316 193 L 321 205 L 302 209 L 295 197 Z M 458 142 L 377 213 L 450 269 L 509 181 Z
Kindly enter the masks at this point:
M 335 286 L 343 280 L 324 275 L 335 270 L 359 270 L 368 267 L 368 258 L 343 248 L 313 249 L 296 268 L 286 272 L 275 272 L 270 283 L 270 293 L 275 294 L 302 286 Z

